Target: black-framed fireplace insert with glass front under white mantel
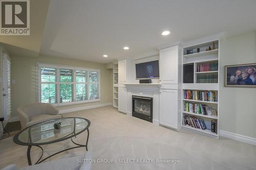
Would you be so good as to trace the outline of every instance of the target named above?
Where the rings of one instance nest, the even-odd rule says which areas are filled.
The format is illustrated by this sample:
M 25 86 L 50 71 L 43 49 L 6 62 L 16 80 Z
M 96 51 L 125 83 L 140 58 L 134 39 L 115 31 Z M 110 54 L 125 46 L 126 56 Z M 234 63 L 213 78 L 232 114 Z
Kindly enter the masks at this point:
M 138 117 L 148 122 L 153 120 L 153 98 L 147 98 L 143 96 L 132 96 L 134 117 Z

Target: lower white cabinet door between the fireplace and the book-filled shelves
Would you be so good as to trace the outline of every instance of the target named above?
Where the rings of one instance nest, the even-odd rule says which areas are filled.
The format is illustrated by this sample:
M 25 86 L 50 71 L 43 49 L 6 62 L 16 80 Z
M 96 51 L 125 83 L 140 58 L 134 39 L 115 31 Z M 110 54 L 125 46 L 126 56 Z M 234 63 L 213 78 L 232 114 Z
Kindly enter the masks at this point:
M 159 123 L 178 129 L 178 90 L 160 90 Z

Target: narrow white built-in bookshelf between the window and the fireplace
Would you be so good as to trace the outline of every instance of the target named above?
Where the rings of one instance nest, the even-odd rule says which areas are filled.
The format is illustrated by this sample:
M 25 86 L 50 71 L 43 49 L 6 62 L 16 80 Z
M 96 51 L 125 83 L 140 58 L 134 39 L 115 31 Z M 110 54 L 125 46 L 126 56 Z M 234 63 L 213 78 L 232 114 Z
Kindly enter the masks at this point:
M 118 63 L 113 64 L 113 107 L 118 108 Z

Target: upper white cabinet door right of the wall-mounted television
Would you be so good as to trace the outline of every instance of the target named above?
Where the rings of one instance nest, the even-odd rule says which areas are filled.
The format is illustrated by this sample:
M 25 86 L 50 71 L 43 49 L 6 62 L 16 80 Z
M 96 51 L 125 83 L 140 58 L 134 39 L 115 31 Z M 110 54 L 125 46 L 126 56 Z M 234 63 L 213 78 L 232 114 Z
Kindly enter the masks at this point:
M 178 84 L 178 50 L 178 45 L 160 50 L 160 83 Z

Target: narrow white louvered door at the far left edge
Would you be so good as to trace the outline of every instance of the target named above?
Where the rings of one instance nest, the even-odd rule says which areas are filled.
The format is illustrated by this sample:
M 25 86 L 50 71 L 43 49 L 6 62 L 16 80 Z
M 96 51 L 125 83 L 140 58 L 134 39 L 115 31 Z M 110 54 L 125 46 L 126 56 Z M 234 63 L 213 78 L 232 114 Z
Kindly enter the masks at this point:
M 11 63 L 3 53 L 3 114 L 5 121 L 11 117 Z

